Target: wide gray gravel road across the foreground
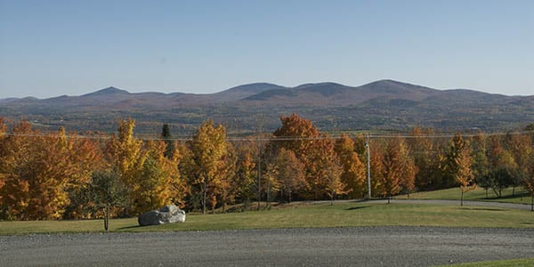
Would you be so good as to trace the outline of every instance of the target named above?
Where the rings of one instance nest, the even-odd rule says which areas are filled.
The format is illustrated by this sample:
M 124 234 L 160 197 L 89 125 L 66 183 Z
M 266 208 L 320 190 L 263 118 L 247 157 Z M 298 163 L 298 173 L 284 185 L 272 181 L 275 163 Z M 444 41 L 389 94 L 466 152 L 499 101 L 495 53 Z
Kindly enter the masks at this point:
M 534 257 L 531 229 L 355 227 L 0 237 L 2 266 L 429 266 Z

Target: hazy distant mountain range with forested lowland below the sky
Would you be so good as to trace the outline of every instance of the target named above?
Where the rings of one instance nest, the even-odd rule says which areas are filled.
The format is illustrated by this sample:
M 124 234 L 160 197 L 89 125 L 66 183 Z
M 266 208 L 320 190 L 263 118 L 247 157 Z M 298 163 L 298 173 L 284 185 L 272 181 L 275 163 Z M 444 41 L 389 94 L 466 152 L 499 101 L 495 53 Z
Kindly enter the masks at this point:
M 271 131 L 280 115 L 297 113 L 324 131 L 445 131 L 510 129 L 534 122 L 534 95 L 506 96 L 473 90 L 436 90 L 392 80 L 357 87 L 336 83 L 285 87 L 239 85 L 219 93 L 128 93 L 108 87 L 80 96 L 0 100 L 0 116 L 28 119 L 44 129 L 114 131 L 118 118 L 134 117 L 136 132 L 158 134 L 163 123 L 189 134 L 213 118 L 234 134 Z M 172 128 L 173 129 L 173 128 Z

